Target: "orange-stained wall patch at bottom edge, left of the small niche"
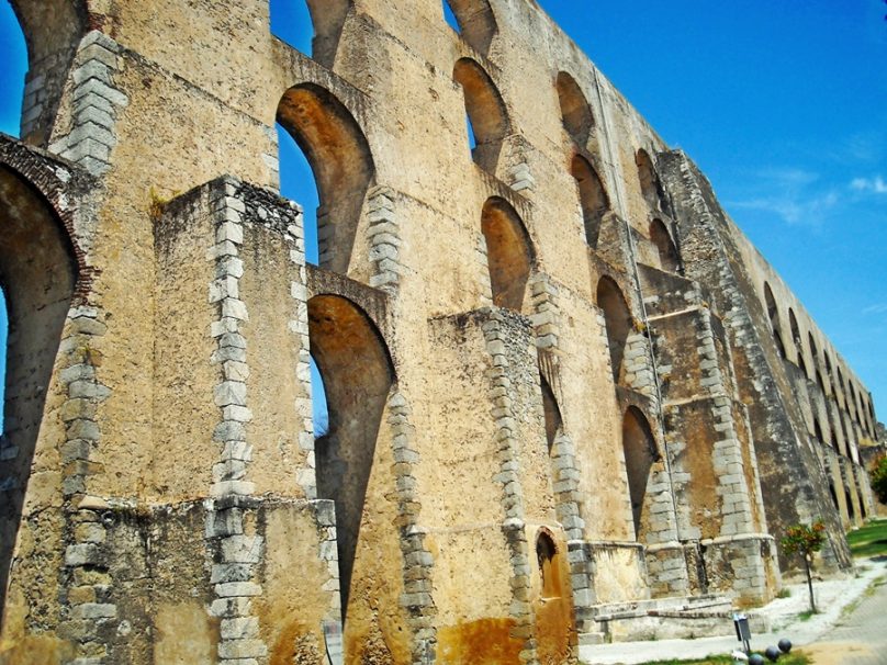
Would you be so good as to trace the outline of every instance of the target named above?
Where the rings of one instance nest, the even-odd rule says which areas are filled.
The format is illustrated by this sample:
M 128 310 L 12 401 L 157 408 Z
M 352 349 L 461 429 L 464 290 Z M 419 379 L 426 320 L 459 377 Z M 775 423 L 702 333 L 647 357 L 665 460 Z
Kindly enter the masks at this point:
M 524 641 L 512 636 L 514 619 L 480 619 L 438 631 L 437 660 L 447 665 L 516 665 Z

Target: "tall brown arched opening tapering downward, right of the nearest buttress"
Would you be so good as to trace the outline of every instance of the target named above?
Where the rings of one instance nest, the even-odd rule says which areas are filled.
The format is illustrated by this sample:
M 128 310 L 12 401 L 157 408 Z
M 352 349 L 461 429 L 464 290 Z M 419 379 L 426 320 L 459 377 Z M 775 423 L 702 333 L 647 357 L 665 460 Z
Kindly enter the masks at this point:
M 317 496 L 336 504 L 344 610 L 348 607 L 363 504 L 393 370 L 369 317 L 350 301 L 308 301 L 311 350 L 323 376 L 328 427 L 315 441 Z

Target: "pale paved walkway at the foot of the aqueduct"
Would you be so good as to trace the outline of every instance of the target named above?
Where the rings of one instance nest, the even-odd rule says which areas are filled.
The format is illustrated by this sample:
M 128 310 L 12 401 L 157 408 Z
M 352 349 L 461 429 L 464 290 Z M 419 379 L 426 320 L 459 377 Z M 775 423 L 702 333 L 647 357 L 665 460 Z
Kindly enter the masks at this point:
M 809 607 L 806 584 L 788 586 L 788 598 L 776 599 L 754 610 L 768 619 L 772 632 L 753 634 L 752 649 L 763 652 L 779 639 L 787 638 L 795 645 L 816 653 L 816 665 L 820 662 L 822 665 L 887 665 L 887 584 L 884 584 L 887 561 L 857 562 L 856 565 L 856 577 L 815 583 L 817 605 L 822 613 L 807 621 L 798 617 Z M 880 585 L 875 587 L 879 581 Z M 875 593 L 866 595 L 869 588 Z M 846 612 L 852 613 L 847 616 Z M 728 630 L 732 631 L 732 623 Z M 849 651 L 850 645 L 853 645 L 853 652 Z M 622 642 L 582 646 L 580 661 L 585 665 L 637 665 L 663 658 L 729 655 L 738 646 L 736 634 L 698 640 Z M 852 660 L 856 657 L 860 660 Z

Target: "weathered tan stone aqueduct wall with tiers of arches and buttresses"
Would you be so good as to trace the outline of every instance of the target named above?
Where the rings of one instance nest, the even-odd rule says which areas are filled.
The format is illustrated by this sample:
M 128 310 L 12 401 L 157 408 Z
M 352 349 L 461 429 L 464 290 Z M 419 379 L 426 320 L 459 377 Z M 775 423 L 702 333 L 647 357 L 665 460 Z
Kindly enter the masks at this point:
M 571 663 L 791 523 L 850 570 L 871 395 L 535 2 L 12 4 L 0 663 Z

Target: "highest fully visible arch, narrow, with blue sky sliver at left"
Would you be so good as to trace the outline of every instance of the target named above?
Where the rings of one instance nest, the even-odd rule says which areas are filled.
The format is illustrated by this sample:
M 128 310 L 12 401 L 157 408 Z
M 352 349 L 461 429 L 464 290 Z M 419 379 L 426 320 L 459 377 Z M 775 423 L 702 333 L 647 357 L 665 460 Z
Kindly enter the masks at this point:
M 505 102 L 490 75 L 470 58 L 456 63 L 452 78 L 462 87 L 465 100 L 469 145 L 472 138 L 474 143 L 472 159 L 482 169 L 494 173 L 503 140 L 510 131 Z

